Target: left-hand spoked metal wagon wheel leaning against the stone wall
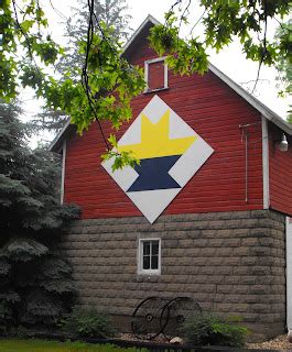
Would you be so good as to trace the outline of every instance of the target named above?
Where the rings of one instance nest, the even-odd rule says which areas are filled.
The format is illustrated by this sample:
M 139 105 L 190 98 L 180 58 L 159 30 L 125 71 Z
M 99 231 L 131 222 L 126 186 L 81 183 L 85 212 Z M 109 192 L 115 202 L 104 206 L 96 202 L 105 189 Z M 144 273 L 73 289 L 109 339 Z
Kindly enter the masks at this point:
M 149 297 L 137 306 L 131 320 L 132 332 L 137 339 L 152 340 L 162 332 L 167 323 L 166 320 L 164 324 L 161 323 L 165 304 L 163 298 Z

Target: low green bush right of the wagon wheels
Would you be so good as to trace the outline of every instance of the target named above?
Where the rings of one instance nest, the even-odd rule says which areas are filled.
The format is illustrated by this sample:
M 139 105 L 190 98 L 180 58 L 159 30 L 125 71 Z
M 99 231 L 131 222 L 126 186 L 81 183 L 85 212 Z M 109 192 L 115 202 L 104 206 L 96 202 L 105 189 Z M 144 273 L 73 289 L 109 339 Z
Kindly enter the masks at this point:
M 237 323 L 238 318 L 223 318 L 215 314 L 203 314 L 186 320 L 182 336 L 194 345 L 226 345 L 240 348 L 245 345 L 248 329 Z

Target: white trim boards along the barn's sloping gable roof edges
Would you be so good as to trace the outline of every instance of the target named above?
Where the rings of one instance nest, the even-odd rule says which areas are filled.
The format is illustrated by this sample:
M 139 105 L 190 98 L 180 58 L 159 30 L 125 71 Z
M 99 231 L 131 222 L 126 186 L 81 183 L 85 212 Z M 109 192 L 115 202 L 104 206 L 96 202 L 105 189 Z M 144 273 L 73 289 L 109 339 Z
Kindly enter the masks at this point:
M 153 25 L 162 24 L 156 19 L 154 19 L 151 14 L 149 14 L 145 20 L 139 25 L 137 31 L 134 31 L 133 35 L 129 40 L 129 42 L 123 46 L 121 55 L 131 46 L 134 42 L 139 33 L 143 30 L 148 22 L 152 22 Z M 278 125 L 281 130 L 283 130 L 289 135 L 292 135 L 292 124 L 285 122 L 280 116 L 273 112 L 271 109 L 266 107 L 261 101 L 255 98 L 252 95 L 247 92 L 242 87 L 240 87 L 237 82 L 235 82 L 231 78 L 227 77 L 224 73 L 221 73 L 214 65 L 209 64 L 209 70 L 219 77 L 224 82 L 226 82 L 231 89 L 234 89 L 240 97 L 242 97 L 247 102 L 249 102 L 256 110 L 258 110 L 267 120 L 271 121 L 275 125 Z M 54 148 L 58 140 L 62 138 L 71 121 L 68 121 L 63 130 L 55 136 L 52 144 L 50 145 L 50 151 Z

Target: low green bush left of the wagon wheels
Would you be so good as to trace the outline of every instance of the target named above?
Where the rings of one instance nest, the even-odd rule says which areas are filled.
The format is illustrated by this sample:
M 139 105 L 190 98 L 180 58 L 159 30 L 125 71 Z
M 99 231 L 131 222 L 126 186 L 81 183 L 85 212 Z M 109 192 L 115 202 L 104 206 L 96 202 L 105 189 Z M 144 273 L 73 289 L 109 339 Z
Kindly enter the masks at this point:
M 95 309 L 74 309 L 64 320 L 64 330 L 78 338 L 95 339 L 113 337 L 116 333 L 107 315 Z

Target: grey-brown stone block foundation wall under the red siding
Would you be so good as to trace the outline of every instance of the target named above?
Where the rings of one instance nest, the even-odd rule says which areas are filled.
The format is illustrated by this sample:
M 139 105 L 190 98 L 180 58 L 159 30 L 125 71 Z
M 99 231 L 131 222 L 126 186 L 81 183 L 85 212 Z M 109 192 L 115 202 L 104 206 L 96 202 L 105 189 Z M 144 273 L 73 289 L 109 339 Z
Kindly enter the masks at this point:
M 138 275 L 138 242 L 161 238 L 161 275 Z M 285 323 L 285 217 L 270 210 L 74 221 L 61 242 L 79 302 L 127 318 L 149 296 L 188 296 L 257 334 Z M 127 320 L 127 319 L 126 319 Z M 129 327 L 123 326 L 123 330 Z

